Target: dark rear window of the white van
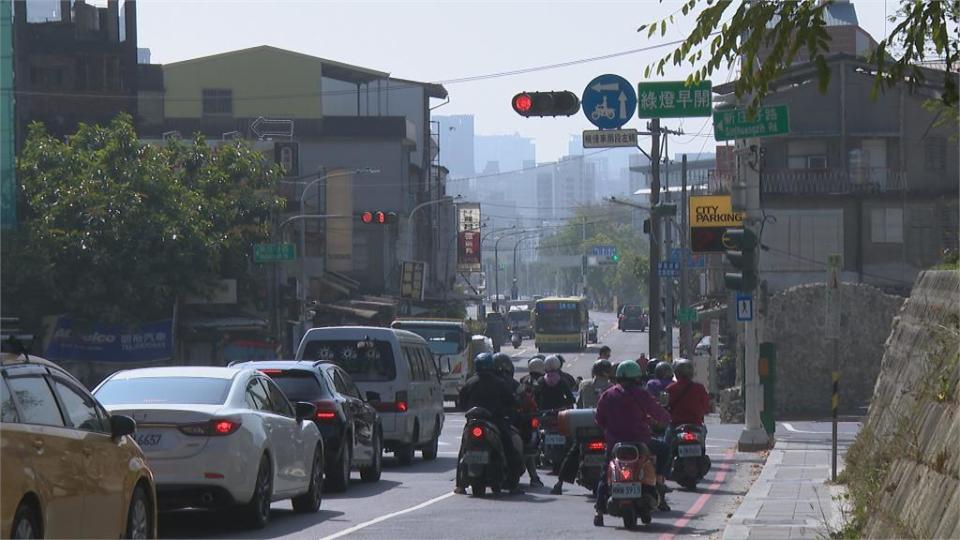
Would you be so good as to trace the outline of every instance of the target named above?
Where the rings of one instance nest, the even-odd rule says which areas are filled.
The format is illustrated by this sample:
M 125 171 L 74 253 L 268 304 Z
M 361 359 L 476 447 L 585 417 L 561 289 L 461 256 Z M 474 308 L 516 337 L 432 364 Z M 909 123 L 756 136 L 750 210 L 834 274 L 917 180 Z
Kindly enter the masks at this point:
M 382 382 L 397 378 L 393 347 L 388 341 L 314 340 L 304 347 L 303 359 L 333 362 L 357 382 Z

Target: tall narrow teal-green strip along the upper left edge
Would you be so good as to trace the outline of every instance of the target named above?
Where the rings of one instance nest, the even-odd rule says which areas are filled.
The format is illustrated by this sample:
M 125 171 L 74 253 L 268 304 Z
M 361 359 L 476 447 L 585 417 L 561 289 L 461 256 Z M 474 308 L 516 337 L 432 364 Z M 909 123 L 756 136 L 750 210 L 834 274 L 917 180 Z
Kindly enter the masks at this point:
M 0 2 L 0 229 L 17 226 L 13 166 L 13 2 Z M 27 9 L 20 5 L 19 9 Z

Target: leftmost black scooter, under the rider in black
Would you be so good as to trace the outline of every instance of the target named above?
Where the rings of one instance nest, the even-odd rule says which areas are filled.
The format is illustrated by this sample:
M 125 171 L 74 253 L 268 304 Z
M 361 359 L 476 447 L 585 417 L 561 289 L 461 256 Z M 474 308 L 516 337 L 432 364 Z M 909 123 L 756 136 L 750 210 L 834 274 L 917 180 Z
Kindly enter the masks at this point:
M 466 413 L 467 424 L 463 428 L 460 440 L 460 458 L 457 463 L 457 476 L 470 485 L 475 497 L 482 497 L 487 488 L 500 493 L 511 474 L 507 455 L 500 442 L 500 430 L 493 422 L 490 411 L 474 407 Z M 516 428 L 511 439 L 514 446 L 521 448 L 522 442 Z

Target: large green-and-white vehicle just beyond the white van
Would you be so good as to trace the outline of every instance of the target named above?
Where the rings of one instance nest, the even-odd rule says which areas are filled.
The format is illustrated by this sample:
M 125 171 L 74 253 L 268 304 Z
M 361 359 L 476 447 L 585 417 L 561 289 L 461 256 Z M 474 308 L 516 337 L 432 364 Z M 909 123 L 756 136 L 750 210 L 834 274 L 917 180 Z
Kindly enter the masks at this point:
M 413 332 L 427 341 L 447 401 L 456 401 L 467 377 L 473 374 L 474 357 L 493 350 L 489 339 L 474 335 L 472 330 L 476 329 L 459 319 L 397 319 L 390 327 Z

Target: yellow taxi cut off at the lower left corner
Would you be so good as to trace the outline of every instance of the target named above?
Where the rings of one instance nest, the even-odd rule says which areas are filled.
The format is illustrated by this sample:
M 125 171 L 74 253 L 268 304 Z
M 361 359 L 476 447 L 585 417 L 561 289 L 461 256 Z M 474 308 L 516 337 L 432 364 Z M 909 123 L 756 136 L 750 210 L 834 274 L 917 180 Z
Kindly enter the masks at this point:
M 0 537 L 156 538 L 153 473 L 77 379 L 32 355 L 0 354 Z

